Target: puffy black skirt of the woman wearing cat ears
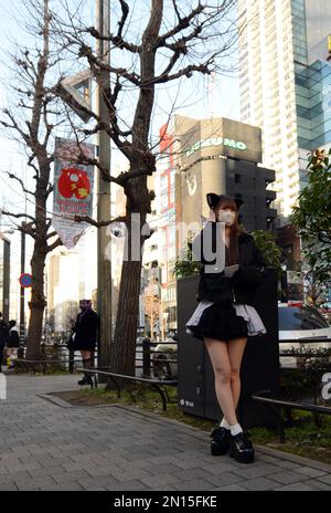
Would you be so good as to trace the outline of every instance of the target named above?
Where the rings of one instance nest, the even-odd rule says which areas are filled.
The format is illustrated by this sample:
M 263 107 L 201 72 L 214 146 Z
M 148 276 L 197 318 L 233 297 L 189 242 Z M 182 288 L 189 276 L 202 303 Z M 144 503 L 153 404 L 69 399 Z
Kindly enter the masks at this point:
M 201 341 L 204 338 L 231 341 L 246 337 L 248 328 L 247 322 L 236 314 L 232 303 L 215 302 L 203 311 L 197 324 L 188 322 L 186 333 Z

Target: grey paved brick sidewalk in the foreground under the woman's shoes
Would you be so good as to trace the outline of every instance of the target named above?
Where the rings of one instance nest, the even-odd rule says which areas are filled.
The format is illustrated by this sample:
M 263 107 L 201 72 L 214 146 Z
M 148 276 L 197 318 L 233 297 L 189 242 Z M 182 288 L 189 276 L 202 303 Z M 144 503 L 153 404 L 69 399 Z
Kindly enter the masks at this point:
M 256 448 L 256 462 L 210 456 L 209 433 L 124 406 L 50 400 L 76 376 L 8 376 L 0 401 L 0 490 L 331 490 L 331 465 Z

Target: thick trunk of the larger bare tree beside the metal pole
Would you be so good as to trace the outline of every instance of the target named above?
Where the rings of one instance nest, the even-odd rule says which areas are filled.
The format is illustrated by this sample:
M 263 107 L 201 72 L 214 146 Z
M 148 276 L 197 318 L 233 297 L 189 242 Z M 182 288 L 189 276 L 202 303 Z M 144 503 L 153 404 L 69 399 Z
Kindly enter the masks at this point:
M 132 148 L 130 170 L 156 168 L 156 158 L 149 149 L 148 136 L 154 101 L 153 78 L 156 67 L 156 43 L 161 27 L 163 1 L 152 0 L 150 19 L 142 35 L 143 50 L 140 54 L 141 82 L 139 100 L 132 124 Z M 125 187 L 127 196 L 126 217 L 128 219 L 126 243 L 128 244 L 128 261 L 122 263 L 118 299 L 114 348 L 110 350 L 110 369 L 126 375 L 135 375 L 136 337 L 139 314 L 139 294 L 141 286 L 141 260 L 131 261 L 131 214 L 140 214 L 140 227 L 150 213 L 150 193 L 147 187 L 147 176 L 131 179 Z M 140 254 L 145 239 L 140 237 Z

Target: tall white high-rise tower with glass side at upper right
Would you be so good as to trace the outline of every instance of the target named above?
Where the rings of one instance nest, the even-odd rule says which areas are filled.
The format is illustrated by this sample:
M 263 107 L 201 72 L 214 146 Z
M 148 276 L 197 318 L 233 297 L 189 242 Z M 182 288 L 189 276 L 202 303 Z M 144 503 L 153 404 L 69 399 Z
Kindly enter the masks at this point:
M 263 130 L 284 226 L 307 180 L 307 150 L 331 142 L 330 0 L 238 0 L 238 20 L 242 121 Z

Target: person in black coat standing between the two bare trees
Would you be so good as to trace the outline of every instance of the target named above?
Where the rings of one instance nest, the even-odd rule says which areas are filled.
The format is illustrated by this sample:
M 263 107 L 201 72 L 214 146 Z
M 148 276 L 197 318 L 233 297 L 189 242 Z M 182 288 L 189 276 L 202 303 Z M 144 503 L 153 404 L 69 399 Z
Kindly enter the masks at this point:
M 97 343 L 98 316 L 92 308 L 90 300 L 79 301 L 81 312 L 73 325 L 74 349 L 81 350 L 83 367 L 90 369 L 94 366 L 94 353 Z M 78 385 L 93 385 L 89 373 L 84 374 Z

